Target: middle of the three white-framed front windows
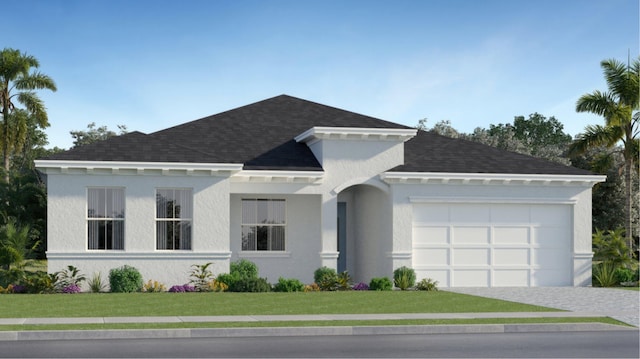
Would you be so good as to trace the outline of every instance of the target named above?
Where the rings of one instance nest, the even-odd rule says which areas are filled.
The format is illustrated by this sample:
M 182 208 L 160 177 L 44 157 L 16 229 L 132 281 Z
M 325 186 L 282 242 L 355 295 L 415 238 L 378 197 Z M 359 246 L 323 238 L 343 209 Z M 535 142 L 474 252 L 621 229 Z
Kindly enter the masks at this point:
M 191 249 L 193 191 L 156 189 L 156 249 Z

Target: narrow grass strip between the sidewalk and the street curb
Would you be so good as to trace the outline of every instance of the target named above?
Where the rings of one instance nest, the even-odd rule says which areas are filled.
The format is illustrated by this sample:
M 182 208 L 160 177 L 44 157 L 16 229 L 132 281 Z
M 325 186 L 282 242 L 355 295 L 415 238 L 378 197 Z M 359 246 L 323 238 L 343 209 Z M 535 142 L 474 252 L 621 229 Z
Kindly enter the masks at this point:
M 558 324 L 603 323 L 629 326 L 607 317 L 594 318 L 479 318 L 479 319 L 414 319 L 414 320 L 335 320 L 277 322 L 197 322 L 197 323 L 118 323 L 118 324 L 30 324 L 0 325 L 0 331 L 23 330 L 109 330 L 109 329 L 194 329 L 194 328 L 275 328 L 379 325 L 486 325 L 486 324 Z

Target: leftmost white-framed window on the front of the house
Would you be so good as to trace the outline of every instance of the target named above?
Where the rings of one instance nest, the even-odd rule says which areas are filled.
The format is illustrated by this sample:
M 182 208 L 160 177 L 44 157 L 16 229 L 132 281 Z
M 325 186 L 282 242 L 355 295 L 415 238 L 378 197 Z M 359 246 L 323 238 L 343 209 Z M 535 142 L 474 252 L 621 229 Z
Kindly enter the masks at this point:
M 124 189 L 87 190 L 89 249 L 124 249 Z

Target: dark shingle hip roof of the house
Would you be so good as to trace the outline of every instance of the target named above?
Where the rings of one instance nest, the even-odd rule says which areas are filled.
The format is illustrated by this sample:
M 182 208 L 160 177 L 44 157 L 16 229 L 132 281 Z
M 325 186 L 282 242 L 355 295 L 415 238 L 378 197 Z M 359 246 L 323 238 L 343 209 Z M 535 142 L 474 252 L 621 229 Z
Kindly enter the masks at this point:
M 75 148 L 50 160 L 242 163 L 253 170 L 322 170 L 306 144 L 293 139 L 314 127 L 409 128 L 281 95 L 145 135 Z M 418 131 L 405 143 L 405 164 L 392 171 L 575 174 L 588 171 Z

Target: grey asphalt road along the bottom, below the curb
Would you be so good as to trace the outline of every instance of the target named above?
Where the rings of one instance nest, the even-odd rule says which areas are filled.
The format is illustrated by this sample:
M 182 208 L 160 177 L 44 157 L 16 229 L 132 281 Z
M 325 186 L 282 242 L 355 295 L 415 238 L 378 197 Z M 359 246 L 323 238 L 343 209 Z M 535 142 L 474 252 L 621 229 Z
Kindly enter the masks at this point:
M 10 358 L 638 358 L 637 331 L 0 342 Z

